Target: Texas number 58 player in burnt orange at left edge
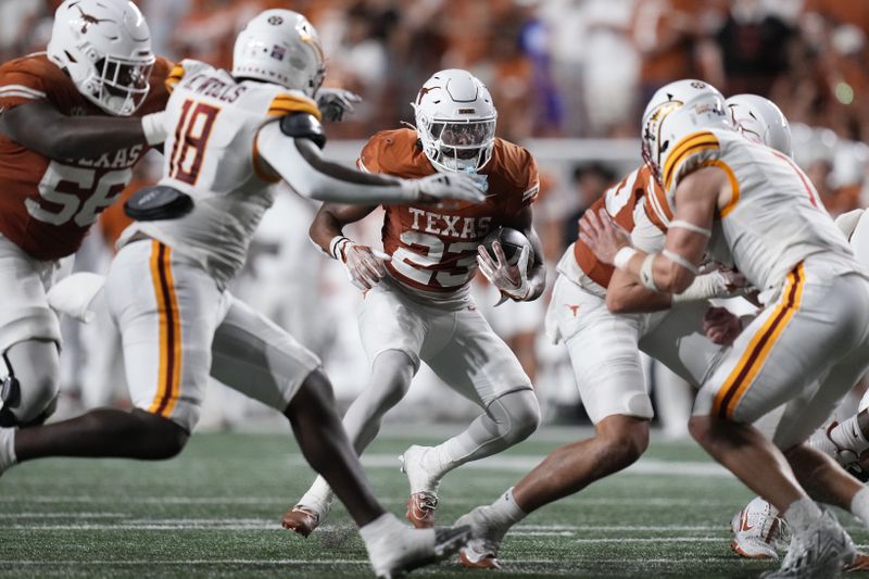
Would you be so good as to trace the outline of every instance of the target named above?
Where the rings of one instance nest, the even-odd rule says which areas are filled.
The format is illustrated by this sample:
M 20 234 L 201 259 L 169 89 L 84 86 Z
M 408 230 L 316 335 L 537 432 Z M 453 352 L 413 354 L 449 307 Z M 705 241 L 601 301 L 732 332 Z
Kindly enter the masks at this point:
M 66 0 L 47 51 L 0 66 L 0 426 L 54 410 L 60 328 L 46 289 L 163 140 L 169 68 L 127 0 Z

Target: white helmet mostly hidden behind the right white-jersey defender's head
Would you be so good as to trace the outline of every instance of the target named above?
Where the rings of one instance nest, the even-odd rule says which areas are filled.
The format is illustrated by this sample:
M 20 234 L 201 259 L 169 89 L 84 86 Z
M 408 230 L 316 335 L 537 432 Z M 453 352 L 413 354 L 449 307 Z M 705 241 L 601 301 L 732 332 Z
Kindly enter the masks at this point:
M 794 156 L 791 125 L 774 102 L 757 95 L 734 95 L 726 102 L 730 122 L 747 139 Z

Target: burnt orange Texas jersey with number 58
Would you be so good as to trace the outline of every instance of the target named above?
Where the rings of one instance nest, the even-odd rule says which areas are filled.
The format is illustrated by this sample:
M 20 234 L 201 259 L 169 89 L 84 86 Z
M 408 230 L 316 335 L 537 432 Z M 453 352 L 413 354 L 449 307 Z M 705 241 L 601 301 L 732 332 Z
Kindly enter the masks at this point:
M 162 111 L 172 65 L 158 58 L 151 90 L 135 116 Z M 0 111 L 47 100 L 65 115 L 105 115 L 81 96 L 45 53 L 0 66 Z M 34 127 L 51 130 L 51 127 Z M 0 135 L 0 234 L 37 260 L 75 253 L 103 209 L 133 177 L 133 165 L 148 147 L 137 144 L 99 159 L 50 160 Z

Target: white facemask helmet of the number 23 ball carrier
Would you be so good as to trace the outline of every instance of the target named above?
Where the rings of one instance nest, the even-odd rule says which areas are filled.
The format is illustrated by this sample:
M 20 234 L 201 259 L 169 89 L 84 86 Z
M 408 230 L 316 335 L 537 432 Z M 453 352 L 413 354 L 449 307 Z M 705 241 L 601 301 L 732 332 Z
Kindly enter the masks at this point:
M 423 151 L 439 172 L 476 173 L 492 159 L 498 111 L 489 90 L 469 72 L 434 73 L 411 106 Z

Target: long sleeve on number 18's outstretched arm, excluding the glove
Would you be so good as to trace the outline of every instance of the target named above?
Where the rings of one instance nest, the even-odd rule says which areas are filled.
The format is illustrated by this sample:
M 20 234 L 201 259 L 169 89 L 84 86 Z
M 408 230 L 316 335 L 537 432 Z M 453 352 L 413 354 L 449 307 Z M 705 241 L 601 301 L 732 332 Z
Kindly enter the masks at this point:
M 367 204 L 406 203 L 416 197 L 403 179 L 361 173 L 326 161 L 313 142 L 288 137 L 279 123 L 265 125 L 256 139 L 260 156 L 302 197 Z

